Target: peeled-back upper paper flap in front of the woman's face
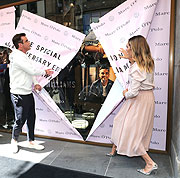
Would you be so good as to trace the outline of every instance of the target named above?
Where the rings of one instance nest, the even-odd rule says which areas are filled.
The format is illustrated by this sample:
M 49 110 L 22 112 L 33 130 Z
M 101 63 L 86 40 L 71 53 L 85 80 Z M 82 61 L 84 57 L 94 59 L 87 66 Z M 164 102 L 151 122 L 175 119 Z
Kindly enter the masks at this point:
M 128 81 L 129 61 L 120 58 L 119 49 L 125 48 L 128 39 L 134 35 L 147 37 L 156 5 L 157 0 L 129 0 L 100 18 L 99 23 L 91 24 L 124 88 Z

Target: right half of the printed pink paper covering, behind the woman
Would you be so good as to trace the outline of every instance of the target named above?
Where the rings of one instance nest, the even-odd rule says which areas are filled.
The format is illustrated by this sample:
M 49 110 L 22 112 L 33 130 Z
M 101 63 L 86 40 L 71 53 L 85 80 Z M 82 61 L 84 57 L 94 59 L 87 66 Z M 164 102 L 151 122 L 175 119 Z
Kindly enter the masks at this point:
M 128 39 L 134 35 L 147 38 L 155 60 L 155 119 L 150 148 L 163 151 L 166 150 L 170 5 L 168 0 L 129 0 L 103 16 L 99 23 L 91 24 L 122 88 L 126 88 L 129 65 L 126 59 L 121 58 L 119 49 L 126 48 Z M 111 98 L 110 94 L 114 100 L 113 93 L 108 97 Z M 122 95 L 122 90 L 116 93 L 118 95 Z M 120 97 L 119 102 L 121 104 Z M 108 114 L 105 112 L 107 107 L 101 108 L 99 114 L 105 112 L 106 115 L 97 116 L 87 141 L 111 143 L 102 135 L 106 134 L 103 128 L 109 125 L 109 120 L 113 120 L 117 112 L 117 100 L 113 106 L 115 109 Z

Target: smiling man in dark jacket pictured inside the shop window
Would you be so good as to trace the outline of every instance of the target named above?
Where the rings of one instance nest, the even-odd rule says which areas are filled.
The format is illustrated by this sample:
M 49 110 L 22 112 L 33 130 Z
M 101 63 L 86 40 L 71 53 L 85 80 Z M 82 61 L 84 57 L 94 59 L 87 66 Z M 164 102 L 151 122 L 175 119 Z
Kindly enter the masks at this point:
M 114 82 L 109 79 L 109 68 L 106 66 L 100 67 L 99 79 L 94 81 L 90 87 L 90 97 L 94 100 L 99 99 L 100 102 L 103 103 L 113 83 Z

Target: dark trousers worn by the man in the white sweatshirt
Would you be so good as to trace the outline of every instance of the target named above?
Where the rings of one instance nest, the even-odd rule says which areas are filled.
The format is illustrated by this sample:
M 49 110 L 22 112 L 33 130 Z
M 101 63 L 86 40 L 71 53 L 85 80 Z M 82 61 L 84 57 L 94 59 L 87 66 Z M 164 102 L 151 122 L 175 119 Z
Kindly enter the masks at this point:
M 12 138 L 18 140 L 22 127 L 27 121 L 27 140 L 34 140 L 35 127 L 35 102 L 33 94 L 16 95 L 11 94 L 11 100 L 14 106 L 15 123 L 12 131 Z

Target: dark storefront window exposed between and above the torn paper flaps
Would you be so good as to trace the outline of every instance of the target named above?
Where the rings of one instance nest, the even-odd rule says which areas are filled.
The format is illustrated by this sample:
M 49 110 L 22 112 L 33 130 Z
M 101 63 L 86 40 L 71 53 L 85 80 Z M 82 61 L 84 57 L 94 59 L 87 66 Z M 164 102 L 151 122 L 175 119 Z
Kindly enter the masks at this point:
M 115 80 L 112 67 L 91 31 L 90 24 L 98 22 L 100 17 L 117 4 L 119 3 L 116 1 L 40 0 L 16 6 L 16 24 L 21 12 L 27 10 L 86 34 L 78 54 L 45 86 L 54 102 L 84 139 Z

